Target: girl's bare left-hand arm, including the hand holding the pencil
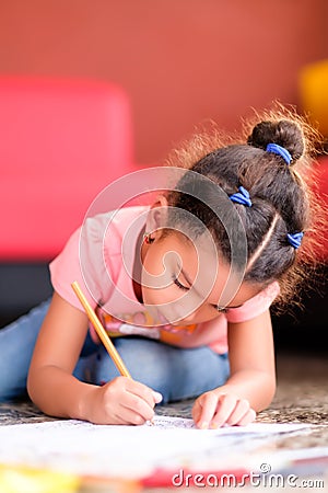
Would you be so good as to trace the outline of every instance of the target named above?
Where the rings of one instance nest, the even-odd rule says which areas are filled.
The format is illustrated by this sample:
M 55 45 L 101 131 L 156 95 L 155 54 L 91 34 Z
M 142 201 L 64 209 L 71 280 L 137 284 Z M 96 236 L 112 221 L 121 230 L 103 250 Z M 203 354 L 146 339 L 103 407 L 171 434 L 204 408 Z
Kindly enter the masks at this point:
M 142 424 L 153 417 L 147 386 L 117 377 L 103 387 L 72 376 L 87 332 L 87 317 L 55 293 L 32 358 L 27 390 L 45 413 L 98 424 Z

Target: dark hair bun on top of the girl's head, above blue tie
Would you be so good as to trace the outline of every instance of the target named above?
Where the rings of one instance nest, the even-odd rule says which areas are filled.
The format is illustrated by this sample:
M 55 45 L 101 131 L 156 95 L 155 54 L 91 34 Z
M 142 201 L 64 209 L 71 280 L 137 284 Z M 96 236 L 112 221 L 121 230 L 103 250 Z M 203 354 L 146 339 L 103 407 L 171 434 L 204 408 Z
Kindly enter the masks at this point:
M 303 156 L 305 150 L 303 131 L 291 119 L 260 122 L 254 127 L 247 144 L 265 150 L 268 144 L 278 144 L 290 152 L 292 164 Z

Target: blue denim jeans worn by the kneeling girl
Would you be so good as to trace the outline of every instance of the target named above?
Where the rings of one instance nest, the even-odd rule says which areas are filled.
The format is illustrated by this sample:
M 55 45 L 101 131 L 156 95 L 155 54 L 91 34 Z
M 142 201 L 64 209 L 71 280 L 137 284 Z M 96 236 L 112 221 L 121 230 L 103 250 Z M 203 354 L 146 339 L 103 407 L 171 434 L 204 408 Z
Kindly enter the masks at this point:
M 0 402 L 26 395 L 34 345 L 50 301 L 0 330 Z M 140 336 L 113 339 L 133 379 L 161 392 L 164 402 L 194 398 L 225 382 L 227 355 L 207 346 L 184 349 Z M 119 374 L 106 349 L 86 336 L 74 376 L 103 385 Z

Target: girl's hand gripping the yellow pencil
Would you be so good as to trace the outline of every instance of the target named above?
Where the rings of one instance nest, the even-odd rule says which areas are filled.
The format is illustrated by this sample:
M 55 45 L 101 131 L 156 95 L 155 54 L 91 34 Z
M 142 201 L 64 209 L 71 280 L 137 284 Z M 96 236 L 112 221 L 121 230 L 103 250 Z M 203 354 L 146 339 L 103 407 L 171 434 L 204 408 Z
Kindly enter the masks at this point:
M 154 416 L 162 395 L 127 377 L 117 377 L 91 392 L 87 419 L 95 424 L 141 425 Z

